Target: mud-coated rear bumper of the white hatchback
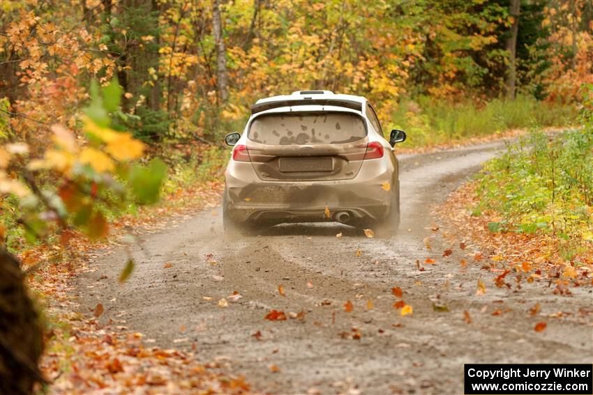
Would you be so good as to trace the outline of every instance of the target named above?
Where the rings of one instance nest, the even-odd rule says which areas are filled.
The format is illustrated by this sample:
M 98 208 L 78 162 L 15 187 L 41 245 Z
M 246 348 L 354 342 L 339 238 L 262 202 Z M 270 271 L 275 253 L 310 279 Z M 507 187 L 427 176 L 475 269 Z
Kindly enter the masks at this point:
M 246 165 L 250 168 L 248 163 L 234 163 L 226 173 L 227 214 L 237 222 L 333 221 L 344 211 L 353 221 L 381 219 L 389 214 L 391 194 L 399 193 L 393 170 L 379 163 L 362 166 L 350 180 L 298 182 L 262 181 Z M 391 190 L 384 189 L 385 183 Z

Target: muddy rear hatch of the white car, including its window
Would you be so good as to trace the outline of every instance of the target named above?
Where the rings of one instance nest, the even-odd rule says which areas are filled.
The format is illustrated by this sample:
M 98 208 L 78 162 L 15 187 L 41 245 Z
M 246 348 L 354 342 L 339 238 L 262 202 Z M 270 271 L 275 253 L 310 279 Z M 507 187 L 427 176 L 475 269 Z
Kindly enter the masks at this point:
M 360 115 L 313 111 L 258 116 L 246 148 L 262 180 L 346 180 L 359 172 L 367 143 Z

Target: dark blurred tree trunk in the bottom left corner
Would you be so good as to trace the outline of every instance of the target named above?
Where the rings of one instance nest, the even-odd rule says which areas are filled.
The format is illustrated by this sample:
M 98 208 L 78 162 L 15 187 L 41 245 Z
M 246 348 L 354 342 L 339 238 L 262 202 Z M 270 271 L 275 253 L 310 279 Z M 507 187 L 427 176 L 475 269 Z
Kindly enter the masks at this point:
M 0 248 L 0 394 L 31 394 L 43 382 L 43 330 L 15 257 Z

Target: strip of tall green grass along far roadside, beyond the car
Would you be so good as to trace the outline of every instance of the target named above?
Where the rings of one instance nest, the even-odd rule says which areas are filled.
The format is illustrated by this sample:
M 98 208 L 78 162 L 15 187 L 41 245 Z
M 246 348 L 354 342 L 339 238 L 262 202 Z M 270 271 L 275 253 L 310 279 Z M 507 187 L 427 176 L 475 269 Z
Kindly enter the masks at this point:
M 577 120 L 575 106 L 522 95 L 515 100 L 495 99 L 481 107 L 472 101 L 451 103 L 421 96 L 403 100 L 391 124 L 407 132 L 405 146 L 421 147 L 509 129 L 573 125 Z

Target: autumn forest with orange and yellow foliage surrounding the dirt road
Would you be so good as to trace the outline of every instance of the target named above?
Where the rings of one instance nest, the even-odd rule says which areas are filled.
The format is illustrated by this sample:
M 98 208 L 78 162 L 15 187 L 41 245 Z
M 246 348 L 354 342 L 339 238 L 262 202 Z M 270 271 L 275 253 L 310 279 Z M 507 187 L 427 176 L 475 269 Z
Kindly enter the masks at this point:
M 593 263 L 591 1 L 1 0 L 0 392 L 51 387 L 40 360 L 66 330 L 40 313 L 48 272 L 121 219 L 218 196 L 225 134 L 305 89 L 368 98 L 407 153 L 570 127 L 568 145 L 538 134 L 491 162 L 474 217 L 548 229 L 558 262 Z

